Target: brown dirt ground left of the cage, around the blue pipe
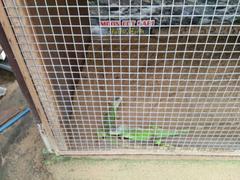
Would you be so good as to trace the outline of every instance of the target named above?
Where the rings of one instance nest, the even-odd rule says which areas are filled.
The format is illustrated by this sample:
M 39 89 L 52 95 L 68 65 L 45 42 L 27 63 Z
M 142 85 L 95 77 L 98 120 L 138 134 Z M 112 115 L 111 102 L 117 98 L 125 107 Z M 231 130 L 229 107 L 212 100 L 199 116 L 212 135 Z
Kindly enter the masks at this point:
M 0 85 L 7 94 L 0 99 L 0 110 L 27 106 L 12 74 L 0 70 Z M 0 179 L 51 179 L 42 162 L 43 144 L 31 114 L 0 134 Z

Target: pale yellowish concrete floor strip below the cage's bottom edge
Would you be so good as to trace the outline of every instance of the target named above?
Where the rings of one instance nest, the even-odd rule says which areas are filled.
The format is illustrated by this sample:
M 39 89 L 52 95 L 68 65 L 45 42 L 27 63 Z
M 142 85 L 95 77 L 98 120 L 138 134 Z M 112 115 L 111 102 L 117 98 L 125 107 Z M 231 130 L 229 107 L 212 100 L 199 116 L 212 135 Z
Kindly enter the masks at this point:
M 240 161 L 81 159 L 48 166 L 55 179 L 237 180 Z

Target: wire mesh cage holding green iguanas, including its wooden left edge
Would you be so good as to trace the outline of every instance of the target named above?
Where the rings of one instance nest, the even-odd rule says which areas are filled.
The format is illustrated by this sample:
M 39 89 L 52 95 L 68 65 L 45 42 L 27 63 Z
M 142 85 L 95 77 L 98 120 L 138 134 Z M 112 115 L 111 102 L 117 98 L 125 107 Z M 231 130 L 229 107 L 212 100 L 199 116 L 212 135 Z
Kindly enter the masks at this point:
M 237 0 L 3 0 L 62 154 L 240 150 Z

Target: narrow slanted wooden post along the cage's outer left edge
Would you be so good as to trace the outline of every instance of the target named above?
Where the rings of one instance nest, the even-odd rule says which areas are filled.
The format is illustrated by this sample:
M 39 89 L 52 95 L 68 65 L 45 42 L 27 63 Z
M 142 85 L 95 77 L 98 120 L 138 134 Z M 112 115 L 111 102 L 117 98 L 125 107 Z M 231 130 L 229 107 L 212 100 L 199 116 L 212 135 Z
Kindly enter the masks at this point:
M 32 81 L 31 75 L 29 73 L 29 70 L 26 66 L 26 63 L 24 61 L 24 58 L 22 56 L 22 53 L 20 51 L 20 48 L 18 46 L 18 42 L 16 40 L 16 37 L 14 35 L 14 32 L 12 30 L 11 24 L 9 22 L 8 16 L 5 12 L 4 6 L 3 6 L 3 2 L 0 1 L 0 23 L 2 25 L 2 28 L 5 32 L 7 41 L 11 47 L 12 53 L 14 55 L 14 58 L 10 58 L 9 60 L 11 61 L 11 64 L 16 64 L 16 68 L 19 69 L 19 71 L 16 71 L 16 75 L 20 76 L 25 83 L 22 84 L 22 80 L 19 82 L 20 86 L 24 86 L 24 89 L 27 89 L 27 93 L 29 93 L 29 95 L 31 96 L 31 100 L 30 98 L 27 98 L 30 105 L 32 104 L 32 106 L 34 106 L 34 110 L 36 110 L 39 119 L 42 123 L 42 126 L 49 138 L 49 141 L 51 142 L 52 148 L 53 150 L 58 153 L 58 148 L 57 148 L 57 144 L 55 141 L 55 137 L 53 135 L 53 132 L 51 130 L 51 128 L 49 127 L 49 123 L 48 123 L 48 119 L 46 116 L 46 113 L 43 109 L 42 103 L 39 99 L 38 93 L 36 91 L 36 88 L 34 86 L 34 83 Z M 30 97 L 29 95 L 27 95 L 28 97 Z

